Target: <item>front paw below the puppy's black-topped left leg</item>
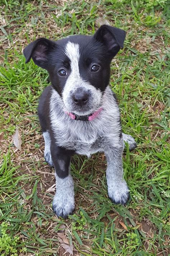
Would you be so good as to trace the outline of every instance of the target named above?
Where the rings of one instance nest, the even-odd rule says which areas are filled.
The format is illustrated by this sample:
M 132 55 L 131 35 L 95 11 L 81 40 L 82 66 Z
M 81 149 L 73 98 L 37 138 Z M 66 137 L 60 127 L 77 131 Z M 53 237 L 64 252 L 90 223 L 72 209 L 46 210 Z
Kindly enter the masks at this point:
M 64 198 L 64 200 L 62 200 L 61 198 L 57 198 L 55 196 L 52 202 L 52 209 L 58 217 L 66 219 L 69 214 L 72 214 L 74 212 L 74 198 L 68 197 L 68 199 Z

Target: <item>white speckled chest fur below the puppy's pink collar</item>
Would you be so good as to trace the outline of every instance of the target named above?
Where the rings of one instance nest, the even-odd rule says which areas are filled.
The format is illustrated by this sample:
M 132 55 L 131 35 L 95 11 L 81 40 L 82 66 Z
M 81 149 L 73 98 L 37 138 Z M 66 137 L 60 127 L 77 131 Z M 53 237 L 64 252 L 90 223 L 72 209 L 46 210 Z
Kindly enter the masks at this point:
M 63 111 L 61 98 L 53 89 L 50 100 L 50 119 L 57 145 L 87 156 L 104 151 L 105 145 L 120 147 L 119 108 L 109 87 L 104 92 L 102 107 L 100 116 L 91 122 L 72 120 Z M 94 147 L 93 144 L 99 137 L 102 140 L 101 146 Z

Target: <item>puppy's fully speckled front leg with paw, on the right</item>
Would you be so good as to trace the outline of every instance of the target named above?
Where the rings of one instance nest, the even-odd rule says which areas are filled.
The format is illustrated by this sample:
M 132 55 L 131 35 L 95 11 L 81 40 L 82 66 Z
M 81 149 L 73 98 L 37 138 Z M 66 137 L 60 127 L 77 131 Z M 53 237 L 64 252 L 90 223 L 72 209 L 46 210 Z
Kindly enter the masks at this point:
M 129 189 L 123 179 L 122 152 L 123 146 L 109 147 L 104 151 L 107 158 L 108 196 L 115 204 L 126 204 L 129 198 Z

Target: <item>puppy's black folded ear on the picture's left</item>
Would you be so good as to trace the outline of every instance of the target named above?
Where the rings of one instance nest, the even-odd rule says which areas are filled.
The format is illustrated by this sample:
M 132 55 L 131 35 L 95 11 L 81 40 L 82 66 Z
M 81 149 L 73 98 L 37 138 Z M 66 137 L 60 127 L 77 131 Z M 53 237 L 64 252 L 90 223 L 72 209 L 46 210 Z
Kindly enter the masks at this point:
M 48 69 L 48 54 L 55 46 L 55 42 L 46 38 L 40 38 L 33 41 L 23 50 L 26 59 L 25 63 L 29 62 L 32 58 L 37 66 L 42 67 L 43 69 Z

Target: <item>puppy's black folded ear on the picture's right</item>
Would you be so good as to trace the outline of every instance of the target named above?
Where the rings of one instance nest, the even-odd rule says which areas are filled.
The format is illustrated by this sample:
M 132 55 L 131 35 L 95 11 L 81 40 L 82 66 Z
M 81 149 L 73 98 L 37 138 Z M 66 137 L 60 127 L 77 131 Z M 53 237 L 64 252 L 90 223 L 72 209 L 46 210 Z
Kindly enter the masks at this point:
M 103 43 L 112 58 L 123 48 L 126 32 L 120 28 L 102 25 L 94 34 L 94 38 Z

